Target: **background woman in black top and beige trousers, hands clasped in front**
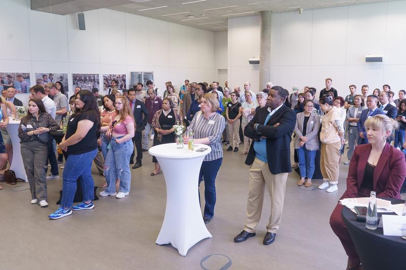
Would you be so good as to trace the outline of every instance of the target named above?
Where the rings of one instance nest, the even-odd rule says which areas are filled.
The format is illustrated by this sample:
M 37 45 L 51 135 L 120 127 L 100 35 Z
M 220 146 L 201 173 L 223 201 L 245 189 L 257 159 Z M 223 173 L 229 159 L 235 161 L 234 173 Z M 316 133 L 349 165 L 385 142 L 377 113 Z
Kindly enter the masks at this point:
M 239 93 L 231 93 L 231 101 L 227 103 L 225 108 L 225 116 L 227 118 L 227 128 L 229 134 L 230 146 L 228 146 L 227 151 L 231 151 L 234 148 L 234 152 L 238 152 L 238 146 L 240 144 L 240 107 L 241 103 L 238 102 L 240 97 Z M 234 139 L 233 139 L 234 138 Z

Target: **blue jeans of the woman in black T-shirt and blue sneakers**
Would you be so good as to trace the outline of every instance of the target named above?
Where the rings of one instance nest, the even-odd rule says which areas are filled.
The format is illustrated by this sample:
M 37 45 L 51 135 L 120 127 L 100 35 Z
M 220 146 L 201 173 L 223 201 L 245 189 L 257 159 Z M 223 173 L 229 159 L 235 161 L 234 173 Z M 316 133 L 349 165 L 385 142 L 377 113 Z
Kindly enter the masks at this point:
M 92 161 L 97 155 L 97 148 L 80 155 L 69 155 L 63 169 L 62 200 L 60 206 L 72 208 L 76 193 L 76 183 L 80 178 L 83 190 L 83 201 L 93 200 L 94 182 Z

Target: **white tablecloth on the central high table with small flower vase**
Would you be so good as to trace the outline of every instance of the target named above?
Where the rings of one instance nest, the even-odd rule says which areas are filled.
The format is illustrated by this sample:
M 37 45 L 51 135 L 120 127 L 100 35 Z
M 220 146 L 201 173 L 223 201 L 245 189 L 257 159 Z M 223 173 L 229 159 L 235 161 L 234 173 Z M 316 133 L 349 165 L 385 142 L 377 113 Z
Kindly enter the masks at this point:
M 201 147 L 207 150 L 196 152 Z M 182 256 L 200 240 L 212 237 L 203 221 L 198 195 L 201 163 L 211 150 L 204 144 L 196 144 L 194 151 L 188 151 L 187 145 L 177 149 L 176 143 L 149 149 L 158 160 L 166 182 L 165 217 L 156 244 L 172 244 Z

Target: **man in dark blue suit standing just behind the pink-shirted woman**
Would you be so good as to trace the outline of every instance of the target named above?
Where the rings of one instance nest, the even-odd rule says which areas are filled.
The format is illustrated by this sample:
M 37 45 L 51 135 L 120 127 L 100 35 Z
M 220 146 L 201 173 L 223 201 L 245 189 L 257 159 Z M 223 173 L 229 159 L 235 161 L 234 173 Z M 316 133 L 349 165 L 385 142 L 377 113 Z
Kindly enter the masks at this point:
M 136 121 L 136 132 L 134 133 L 134 137 L 132 138 L 132 141 L 134 142 L 136 147 L 134 147 L 134 151 L 132 152 L 130 164 L 134 163 L 134 152 L 137 149 L 136 164 L 132 166 L 132 169 L 137 169 L 142 166 L 141 161 L 143 159 L 143 149 L 141 140 L 142 131 L 145 129 L 148 121 L 148 110 L 144 102 L 137 99 L 136 90 L 133 88 L 128 89 L 128 100 L 130 103 L 131 111 L 134 115 L 134 120 Z

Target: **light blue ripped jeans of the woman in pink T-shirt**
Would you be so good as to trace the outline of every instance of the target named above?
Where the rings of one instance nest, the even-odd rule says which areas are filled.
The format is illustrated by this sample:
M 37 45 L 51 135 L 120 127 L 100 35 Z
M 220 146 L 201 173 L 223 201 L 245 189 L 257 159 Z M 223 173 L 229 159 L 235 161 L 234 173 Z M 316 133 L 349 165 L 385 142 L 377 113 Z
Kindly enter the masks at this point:
M 121 137 L 117 137 L 119 139 Z M 129 192 L 131 184 L 130 157 L 134 150 L 132 140 L 117 143 L 111 140 L 110 149 L 105 160 L 106 192 L 116 192 L 116 179 L 120 178 L 120 191 Z

